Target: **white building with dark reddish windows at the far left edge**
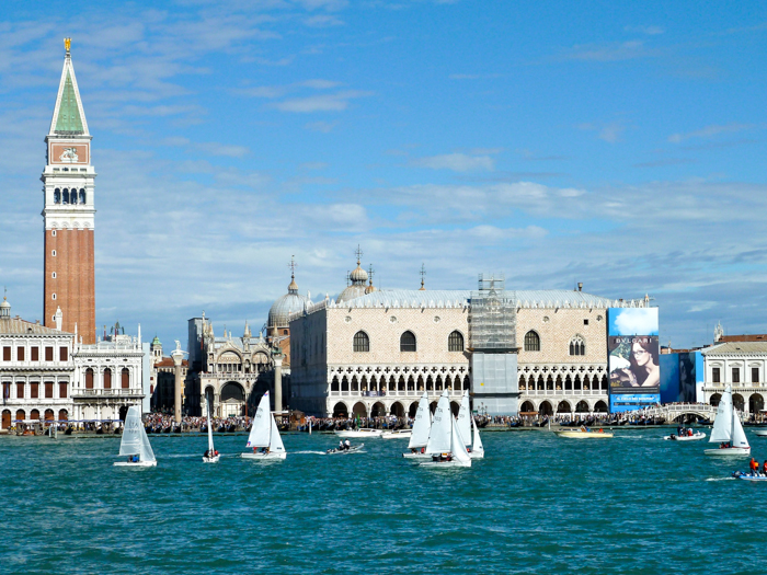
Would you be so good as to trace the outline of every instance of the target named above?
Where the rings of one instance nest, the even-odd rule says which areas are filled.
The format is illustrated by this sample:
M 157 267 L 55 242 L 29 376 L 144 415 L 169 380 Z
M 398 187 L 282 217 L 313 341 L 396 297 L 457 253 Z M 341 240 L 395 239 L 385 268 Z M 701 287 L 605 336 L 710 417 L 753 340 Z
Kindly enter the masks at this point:
M 0 384 L 2 429 L 14 421 L 66 421 L 72 414 L 73 334 L 11 317 L 11 304 L 0 303 Z

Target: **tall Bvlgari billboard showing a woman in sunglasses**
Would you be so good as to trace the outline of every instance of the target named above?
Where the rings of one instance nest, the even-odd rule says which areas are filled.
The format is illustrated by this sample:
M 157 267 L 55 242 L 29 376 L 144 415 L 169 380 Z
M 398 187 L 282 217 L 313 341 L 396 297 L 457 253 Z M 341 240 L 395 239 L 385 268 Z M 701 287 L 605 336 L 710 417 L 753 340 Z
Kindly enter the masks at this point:
M 607 310 L 610 412 L 641 410 L 661 401 L 657 308 Z

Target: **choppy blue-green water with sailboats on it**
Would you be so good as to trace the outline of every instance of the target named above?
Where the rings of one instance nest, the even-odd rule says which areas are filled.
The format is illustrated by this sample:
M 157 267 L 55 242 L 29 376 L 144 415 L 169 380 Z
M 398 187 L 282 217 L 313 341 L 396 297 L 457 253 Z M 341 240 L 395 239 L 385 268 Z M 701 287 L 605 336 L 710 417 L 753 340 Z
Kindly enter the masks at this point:
M 767 482 L 666 433 L 485 433 L 486 458 L 453 470 L 403 460 L 401 439 L 328 457 L 333 436 L 287 435 L 265 464 L 218 437 L 203 464 L 204 436 L 150 436 L 158 467 L 130 470 L 112 467 L 116 438 L 0 437 L 0 572 L 759 571 Z

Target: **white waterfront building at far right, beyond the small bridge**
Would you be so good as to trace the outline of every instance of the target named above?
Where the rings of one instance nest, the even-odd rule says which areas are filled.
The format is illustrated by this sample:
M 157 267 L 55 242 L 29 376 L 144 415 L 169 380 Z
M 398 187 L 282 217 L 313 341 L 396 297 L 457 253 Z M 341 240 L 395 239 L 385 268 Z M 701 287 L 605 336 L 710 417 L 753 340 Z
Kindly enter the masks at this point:
M 732 387 L 732 402 L 749 415 L 765 411 L 767 395 L 767 342 L 729 341 L 706 347 L 703 356 L 703 401 L 719 405 L 726 386 Z

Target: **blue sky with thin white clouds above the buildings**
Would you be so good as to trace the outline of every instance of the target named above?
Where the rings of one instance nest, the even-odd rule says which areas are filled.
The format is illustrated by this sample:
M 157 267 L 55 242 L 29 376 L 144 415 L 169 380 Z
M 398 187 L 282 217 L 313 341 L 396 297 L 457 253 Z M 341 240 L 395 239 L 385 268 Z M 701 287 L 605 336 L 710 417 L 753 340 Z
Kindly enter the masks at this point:
M 42 317 L 39 174 L 64 47 L 96 179 L 96 322 L 254 329 L 287 263 L 374 283 L 649 294 L 661 342 L 767 331 L 762 2 L 14 3 L 0 280 Z

